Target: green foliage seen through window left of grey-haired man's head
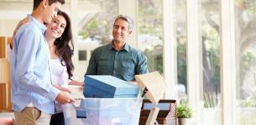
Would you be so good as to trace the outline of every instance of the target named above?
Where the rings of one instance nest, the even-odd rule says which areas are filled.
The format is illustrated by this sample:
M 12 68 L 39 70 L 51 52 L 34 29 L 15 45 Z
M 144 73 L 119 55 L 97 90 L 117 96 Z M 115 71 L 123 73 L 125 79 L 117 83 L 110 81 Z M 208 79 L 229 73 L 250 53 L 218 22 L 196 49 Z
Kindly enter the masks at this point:
M 94 18 L 83 26 L 79 36 L 81 39 L 90 37 L 98 39 L 102 44 L 112 41 L 112 23 L 118 16 L 118 0 L 87 0 L 101 7 L 101 12 L 97 13 Z M 109 9 L 112 8 L 112 9 Z

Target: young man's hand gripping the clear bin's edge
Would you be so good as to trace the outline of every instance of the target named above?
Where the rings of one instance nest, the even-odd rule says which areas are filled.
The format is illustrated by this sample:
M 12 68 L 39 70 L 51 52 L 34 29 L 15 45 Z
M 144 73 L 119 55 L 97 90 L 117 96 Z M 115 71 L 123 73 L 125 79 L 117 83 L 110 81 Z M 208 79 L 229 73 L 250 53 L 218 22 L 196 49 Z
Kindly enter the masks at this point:
M 71 102 L 75 102 L 75 99 L 73 97 L 71 97 L 71 94 L 68 92 L 63 92 L 60 91 L 60 93 L 58 94 L 58 96 L 55 98 L 55 100 L 57 102 L 59 102 L 60 104 L 65 104 L 65 103 L 71 103 Z

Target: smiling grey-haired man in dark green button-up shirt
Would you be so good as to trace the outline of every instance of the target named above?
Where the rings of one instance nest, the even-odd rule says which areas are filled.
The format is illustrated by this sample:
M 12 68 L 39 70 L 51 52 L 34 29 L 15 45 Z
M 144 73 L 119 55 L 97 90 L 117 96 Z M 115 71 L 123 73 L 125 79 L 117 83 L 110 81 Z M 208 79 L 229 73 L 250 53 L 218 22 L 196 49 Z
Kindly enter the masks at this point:
M 112 75 L 134 81 L 136 74 L 148 72 L 147 57 L 126 42 L 132 29 L 132 18 L 119 15 L 113 25 L 112 42 L 93 51 L 86 75 Z

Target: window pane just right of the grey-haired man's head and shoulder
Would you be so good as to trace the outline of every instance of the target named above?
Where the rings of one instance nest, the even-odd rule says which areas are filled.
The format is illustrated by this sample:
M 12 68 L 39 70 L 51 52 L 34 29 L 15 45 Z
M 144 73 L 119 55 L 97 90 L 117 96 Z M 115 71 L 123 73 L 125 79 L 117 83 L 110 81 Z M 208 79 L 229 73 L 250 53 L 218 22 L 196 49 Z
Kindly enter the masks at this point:
M 163 72 L 162 0 L 138 1 L 138 48 L 148 57 L 149 72 Z

